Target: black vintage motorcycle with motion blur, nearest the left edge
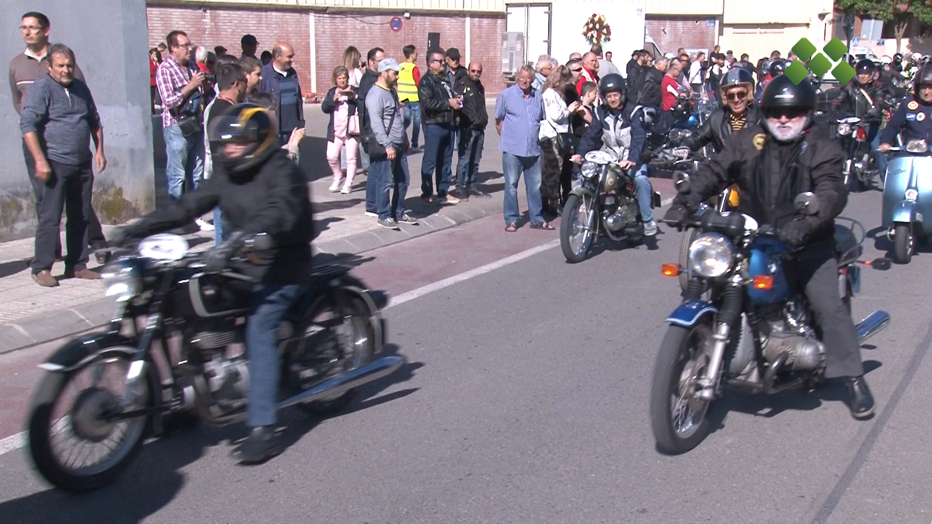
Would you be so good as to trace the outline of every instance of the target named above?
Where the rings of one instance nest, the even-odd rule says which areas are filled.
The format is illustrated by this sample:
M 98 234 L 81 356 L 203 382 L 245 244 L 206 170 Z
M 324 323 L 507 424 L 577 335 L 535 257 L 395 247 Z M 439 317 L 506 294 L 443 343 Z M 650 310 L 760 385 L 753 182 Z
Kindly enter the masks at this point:
M 234 263 L 267 263 L 272 246 L 267 235 L 255 235 Z M 113 481 L 146 435 L 164 433 L 166 421 L 246 420 L 248 355 L 231 356 L 228 346 L 244 340 L 252 279 L 233 270 L 207 272 L 201 256 L 175 235 L 110 254 L 102 276 L 105 296 L 117 302 L 114 320 L 69 340 L 39 365 L 46 373 L 29 409 L 30 456 L 62 490 Z M 279 326 L 278 407 L 332 414 L 404 358 L 376 358 L 385 343 L 386 292 L 366 289 L 346 266 L 324 265 L 312 275 L 314 283 Z M 175 336 L 178 352 L 169 346 Z

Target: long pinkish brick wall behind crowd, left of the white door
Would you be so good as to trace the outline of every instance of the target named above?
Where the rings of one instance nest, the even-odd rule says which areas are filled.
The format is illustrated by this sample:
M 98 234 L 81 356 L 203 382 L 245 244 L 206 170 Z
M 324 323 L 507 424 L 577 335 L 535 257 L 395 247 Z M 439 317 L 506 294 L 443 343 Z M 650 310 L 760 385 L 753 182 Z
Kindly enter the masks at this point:
M 295 48 L 295 70 L 301 81 L 302 90 L 310 92 L 311 60 L 309 42 L 309 17 L 315 17 L 317 90 L 323 94 L 332 85 L 334 68 L 340 64 L 343 50 L 348 46 L 359 48 L 365 56 L 370 48 L 384 48 L 391 58 L 404 61 L 402 48 L 408 44 L 418 47 L 418 65 L 427 69 L 425 51 L 427 34 L 440 33 L 440 45 L 459 48 L 466 55 L 465 15 L 428 15 L 413 12 L 404 20 L 402 30 L 391 31 L 391 14 L 324 14 L 295 10 L 259 10 L 244 8 L 207 7 L 156 7 L 146 8 L 148 16 L 149 42 L 155 47 L 173 29 L 188 34 L 194 45 L 208 48 L 223 46 L 230 53 L 240 54 L 240 37 L 254 34 L 259 40 L 259 50 L 271 49 L 278 40 L 288 42 Z M 505 17 L 473 16 L 470 23 L 472 41 L 469 58 L 483 63 L 483 83 L 490 96 L 503 87 L 501 80 L 501 34 L 505 31 Z M 464 63 L 463 65 L 468 65 Z

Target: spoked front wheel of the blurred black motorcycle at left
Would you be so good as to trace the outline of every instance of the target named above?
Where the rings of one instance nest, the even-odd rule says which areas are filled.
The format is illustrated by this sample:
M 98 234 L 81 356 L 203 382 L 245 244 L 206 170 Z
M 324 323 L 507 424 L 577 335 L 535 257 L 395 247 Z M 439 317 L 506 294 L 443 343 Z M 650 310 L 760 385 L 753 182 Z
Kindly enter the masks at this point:
M 129 368 L 125 355 L 102 355 L 72 373 L 49 372 L 42 379 L 30 411 L 29 451 L 48 482 L 62 490 L 96 490 L 129 465 L 147 418 L 109 418 L 119 410 Z M 150 402 L 148 390 L 140 380 L 130 410 Z

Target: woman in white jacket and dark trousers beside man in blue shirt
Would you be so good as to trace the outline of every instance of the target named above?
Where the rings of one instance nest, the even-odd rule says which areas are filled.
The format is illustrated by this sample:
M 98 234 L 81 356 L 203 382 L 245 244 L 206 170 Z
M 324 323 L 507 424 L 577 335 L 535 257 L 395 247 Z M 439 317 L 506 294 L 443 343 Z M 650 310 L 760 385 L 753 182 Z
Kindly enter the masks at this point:
M 545 213 L 556 214 L 560 206 L 560 173 L 563 164 L 575 154 L 578 137 L 569 131 L 569 117 L 581 110 L 579 102 L 566 102 L 566 86 L 572 73 L 565 65 L 557 67 L 541 87 L 544 119 L 541 120 L 541 201 Z

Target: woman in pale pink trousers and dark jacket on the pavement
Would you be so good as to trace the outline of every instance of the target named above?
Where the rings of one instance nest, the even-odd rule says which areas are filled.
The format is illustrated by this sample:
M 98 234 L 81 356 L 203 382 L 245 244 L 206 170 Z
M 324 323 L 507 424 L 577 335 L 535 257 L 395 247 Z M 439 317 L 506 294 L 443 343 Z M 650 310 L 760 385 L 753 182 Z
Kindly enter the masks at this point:
M 356 111 L 356 88 L 349 86 L 349 70 L 340 65 L 334 69 L 334 87 L 323 97 L 321 110 L 330 115 L 327 124 L 327 163 L 334 172 L 331 191 L 346 195 L 352 190 L 352 179 L 356 176 L 356 152 L 359 150 L 359 114 Z M 340 151 L 346 147 L 347 178 L 340 190 L 343 178 L 340 171 Z

